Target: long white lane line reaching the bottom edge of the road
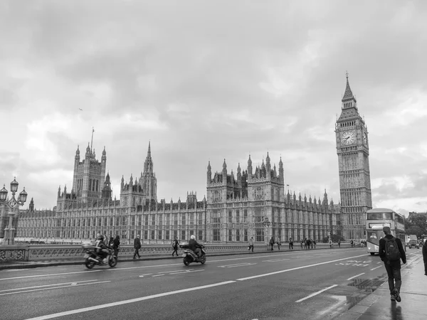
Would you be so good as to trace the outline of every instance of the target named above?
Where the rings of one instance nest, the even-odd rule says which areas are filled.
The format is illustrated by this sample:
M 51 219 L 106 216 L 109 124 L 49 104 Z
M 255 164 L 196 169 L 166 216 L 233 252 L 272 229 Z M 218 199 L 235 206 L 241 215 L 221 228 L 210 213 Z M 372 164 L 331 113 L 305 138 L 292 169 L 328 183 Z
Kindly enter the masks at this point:
M 201 287 L 193 287 L 193 288 L 181 289 L 181 290 L 176 290 L 176 291 L 171 291 L 171 292 L 163 292 L 161 294 L 153 294 L 153 295 L 147 296 L 147 297 L 140 297 L 140 298 L 135 298 L 135 299 L 112 302 L 109 304 L 100 304 L 98 306 L 88 306 L 88 307 L 82 308 L 82 309 L 75 309 L 75 310 L 70 310 L 70 311 L 58 312 L 57 314 L 47 314 L 46 316 L 37 316 L 36 318 L 31 318 L 31 319 L 27 319 L 27 320 L 45 320 L 45 319 L 57 318 L 59 316 L 69 316 L 70 314 L 81 314 L 83 312 L 110 308 L 111 306 L 120 306 L 122 304 L 132 304 L 132 303 L 140 302 L 140 301 L 144 301 L 144 300 L 155 299 L 155 298 L 159 298 L 159 297 L 166 297 L 166 296 L 169 296 L 171 294 L 180 294 L 183 292 L 190 292 L 190 291 L 194 291 L 194 290 L 206 289 L 206 288 L 211 288 L 211 287 L 218 287 L 218 286 L 222 286 L 224 284 L 231 284 L 234 282 L 236 282 L 236 281 L 225 281 L 225 282 L 218 282 L 218 283 L 214 283 L 214 284 L 207 284 L 207 285 L 201 286 Z

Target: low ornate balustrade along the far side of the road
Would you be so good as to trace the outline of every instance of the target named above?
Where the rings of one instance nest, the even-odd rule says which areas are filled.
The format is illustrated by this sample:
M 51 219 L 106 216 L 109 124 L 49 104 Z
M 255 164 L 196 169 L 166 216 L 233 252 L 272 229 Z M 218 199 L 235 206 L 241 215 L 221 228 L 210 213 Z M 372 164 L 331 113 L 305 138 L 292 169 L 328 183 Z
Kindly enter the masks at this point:
M 229 243 L 207 243 L 206 252 L 226 253 L 226 252 L 247 252 L 247 244 L 229 244 Z M 327 243 L 318 243 L 317 249 L 327 249 L 330 247 Z M 334 247 L 338 247 L 334 244 Z M 343 243 L 341 247 L 350 247 L 349 244 Z M 274 245 L 274 250 L 277 250 Z M 288 242 L 284 242 L 280 247 L 281 250 L 288 250 Z M 179 249 L 180 251 L 181 249 Z M 265 244 L 256 244 L 254 251 L 266 251 L 268 246 Z M 294 250 L 301 250 L 299 244 L 294 244 Z M 144 255 L 172 255 L 172 245 L 142 245 L 139 254 Z M 83 259 L 84 249 L 81 245 L 1 245 L 0 262 L 5 261 L 75 261 Z M 133 257 L 133 245 L 120 245 L 119 257 Z

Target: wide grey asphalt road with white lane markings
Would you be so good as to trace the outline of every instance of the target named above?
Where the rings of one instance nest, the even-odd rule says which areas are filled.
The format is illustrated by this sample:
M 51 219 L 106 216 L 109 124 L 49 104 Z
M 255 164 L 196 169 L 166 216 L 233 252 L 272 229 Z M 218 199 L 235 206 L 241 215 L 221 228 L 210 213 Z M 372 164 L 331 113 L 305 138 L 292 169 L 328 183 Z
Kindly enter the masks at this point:
M 0 318 L 332 319 L 385 276 L 363 248 L 2 270 Z

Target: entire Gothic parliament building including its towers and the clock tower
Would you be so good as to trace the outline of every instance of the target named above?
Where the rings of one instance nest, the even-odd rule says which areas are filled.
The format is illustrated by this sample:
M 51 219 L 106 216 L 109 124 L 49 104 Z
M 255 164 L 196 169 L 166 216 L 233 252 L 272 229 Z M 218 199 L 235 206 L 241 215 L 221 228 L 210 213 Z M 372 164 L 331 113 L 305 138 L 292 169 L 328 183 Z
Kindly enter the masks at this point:
M 99 160 L 88 146 L 84 156 L 79 148 L 75 151 L 72 187 L 58 189 L 53 210 L 35 210 L 31 199 L 28 210 L 20 211 L 14 222 L 16 238 L 89 240 L 97 233 L 120 235 L 125 241 L 141 235 L 145 243 L 188 240 L 190 235 L 205 242 L 230 243 L 251 237 L 265 242 L 272 236 L 282 241 L 319 241 L 332 234 L 364 238 L 364 214 L 372 207 L 368 132 L 348 75 L 334 129 L 341 197 L 337 204 L 326 191 L 322 198 L 285 191 L 283 161 L 279 159 L 276 166 L 268 153 L 260 166 L 253 166 L 249 155 L 247 166 L 238 164 L 236 176 L 225 159 L 215 172 L 209 162 L 203 199 L 187 192 L 182 202 L 159 200 L 150 143 L 142 174 L 127 181 L 121 178 L 117 200 L 105 172 L 105 148 Z

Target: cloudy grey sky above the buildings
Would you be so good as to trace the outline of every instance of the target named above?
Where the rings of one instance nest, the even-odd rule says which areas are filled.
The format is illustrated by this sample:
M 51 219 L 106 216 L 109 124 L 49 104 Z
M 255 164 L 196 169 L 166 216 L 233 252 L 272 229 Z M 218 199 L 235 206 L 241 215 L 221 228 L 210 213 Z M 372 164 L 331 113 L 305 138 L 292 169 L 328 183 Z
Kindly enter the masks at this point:
M 94 128 L 117 198 L 150 142 L 158 201 L 201 201 L 209 161 L 236 174 L 268 152 L 291 192 L 338 203 L 348 71 L 374 208 L 425 212 L 426 14 L 425 1 L 0 1 L 0 183 L 16 176 L 53 208 Z

